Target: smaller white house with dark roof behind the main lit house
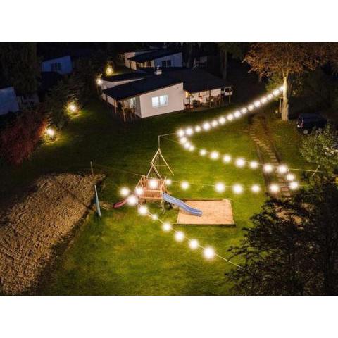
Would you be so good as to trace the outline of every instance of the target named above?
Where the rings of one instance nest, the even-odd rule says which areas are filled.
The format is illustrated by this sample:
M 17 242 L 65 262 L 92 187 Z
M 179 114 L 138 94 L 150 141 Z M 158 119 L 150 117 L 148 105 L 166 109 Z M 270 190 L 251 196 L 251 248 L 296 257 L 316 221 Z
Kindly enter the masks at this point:
M 154 51 L 133 52 L 125 55 L 125 65 L 134 70 L 142 67 L 182 67 L 182 51 L 177 49 L 155 49 Z

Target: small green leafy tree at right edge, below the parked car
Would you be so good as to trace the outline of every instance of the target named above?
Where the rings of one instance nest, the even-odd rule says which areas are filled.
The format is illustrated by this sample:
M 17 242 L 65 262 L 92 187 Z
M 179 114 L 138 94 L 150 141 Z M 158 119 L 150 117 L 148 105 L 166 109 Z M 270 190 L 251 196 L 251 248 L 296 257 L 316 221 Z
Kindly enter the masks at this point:
M 313 131 L 303 139 L 301 155 L 306 161 L 315 163 L 317 170 L 322 167 L 332 173 L 338 165 L 338 132 L 328 123 L 325 129 Z

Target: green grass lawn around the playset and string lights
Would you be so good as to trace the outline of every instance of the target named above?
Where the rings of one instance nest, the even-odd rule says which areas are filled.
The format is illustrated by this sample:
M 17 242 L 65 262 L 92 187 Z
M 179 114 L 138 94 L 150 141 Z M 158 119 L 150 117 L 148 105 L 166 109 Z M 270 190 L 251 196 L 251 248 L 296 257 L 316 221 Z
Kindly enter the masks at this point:
M 106 106 L 93 102 L 82 114 L 65 127 L 58 140 L 41 146 L 15 170 L 1 168 L 4 196 L 20 191 L 43 173 L 88 172 L 89 162 L 94 171 L 106 175 L 100 191 L 101 201 L 113 203 L 120 197 L 120 187 L 132 188 L 138 177 L 126 172 L 144 174 L 157 149 L 158 134 L 175 132 L 180 126 L 213 118 L 226 111 L 173 113 L 136 123 L 123 124 L 113 120 Z M 290 134 L 296 131 L 286 126 Z M 196 146 L 215 149 L 223 154 L 255 159 L 249 139 L 246 118 L 217 131 L 194 138 Z M 171 137 L 175 139 L 175 137 Z M 297 146 L 293 145 L 297 151 Z M 210 161 L 198 154 L 184 151 L 181 146 L 163 139 L 161 149 L 173 168 L 175 180 L 197 184 L 253 183 L 263 184 L 257 170 L 238 169 L 220 161 Z M 279 149 L 283 155 L 283 147 Z M 286 154 L 292 152 L 287 148 Z M 288 158 L 295 158 L 290 156 Z M 297 163 L 298 164 L 298 163 Z M 122 170 L 122 171 L 121 171 Z M 216 198 L 220 195 L 208 186 L 192 186 L 182 192 L 173 184 L 170 193 L 179 198 Z M 250 225 L 249 218 L 260 210 L 264 194 L 251 192 L 237 196 L 226 191 L 222 197 L 232 199 L 237 227 L 180 227 L 189 237 L 209 244 L 222 256 L 228 257 L 229 246 L 238 244 L 242 228 Z M 160 212 L 157 206 L 151 206 Z M 164 219 L 175 222 L 177 211 L 171 210 Z M 237 262 L 239 263 L 239 262 Z M 215 259 L 205 261 L 200 251 L 191 251 L 186 243 L 177 243 L 172 234 L 162 232 L 158 223 L 137 215 L 134 208 L 103 211 L 103 217 L 89 215 L 81 225 L 68 249 L 58 260 L 54 272 L 45 279 L 40 294 L 135 294 L 135 295 L 201 295 L 230 294 L 224 274 L 232 265 Z

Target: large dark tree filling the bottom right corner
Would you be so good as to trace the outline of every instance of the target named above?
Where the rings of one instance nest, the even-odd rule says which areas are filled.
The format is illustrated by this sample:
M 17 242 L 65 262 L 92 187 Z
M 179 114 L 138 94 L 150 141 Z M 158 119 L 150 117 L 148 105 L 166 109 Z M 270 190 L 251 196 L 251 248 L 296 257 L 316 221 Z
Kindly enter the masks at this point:
M 338 292 L 338 189 L 312 177 L 289 201 L 271 199 L 230 252 L 242 268 L 226 274 L 236 294 L 329 295 Z

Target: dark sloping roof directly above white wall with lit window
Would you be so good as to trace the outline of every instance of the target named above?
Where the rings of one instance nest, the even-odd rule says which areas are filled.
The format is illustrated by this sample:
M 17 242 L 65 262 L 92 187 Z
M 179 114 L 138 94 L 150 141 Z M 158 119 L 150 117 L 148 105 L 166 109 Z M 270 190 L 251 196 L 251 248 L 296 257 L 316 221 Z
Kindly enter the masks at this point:
M 161 88 L 169 87 L 182 81 L 166 77 L 163 75 L 154 75 L 146 77 L 142 80 L 128 82 L 105 89 L 103 92 L 111 96 L 115 100 L 129 99 L 134 96 L 139 96 L 148 92 L 154 92 Z

